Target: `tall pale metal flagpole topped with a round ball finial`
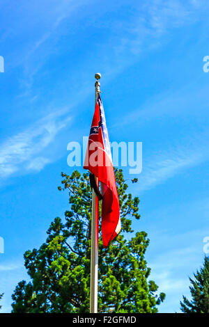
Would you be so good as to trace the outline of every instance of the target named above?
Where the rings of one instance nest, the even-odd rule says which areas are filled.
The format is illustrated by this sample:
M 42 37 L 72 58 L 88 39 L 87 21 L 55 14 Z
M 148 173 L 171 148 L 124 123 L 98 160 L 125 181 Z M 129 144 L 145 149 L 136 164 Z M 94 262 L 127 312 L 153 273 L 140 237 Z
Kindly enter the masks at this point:
M 100 77 L 100 73 L 95 74 L 95 104 L 100 94 Z M 95 180 L 98 184 L 98 177 Z M 90 313 L 98 313 L 98 209 L 98 197 L 92 189 Z

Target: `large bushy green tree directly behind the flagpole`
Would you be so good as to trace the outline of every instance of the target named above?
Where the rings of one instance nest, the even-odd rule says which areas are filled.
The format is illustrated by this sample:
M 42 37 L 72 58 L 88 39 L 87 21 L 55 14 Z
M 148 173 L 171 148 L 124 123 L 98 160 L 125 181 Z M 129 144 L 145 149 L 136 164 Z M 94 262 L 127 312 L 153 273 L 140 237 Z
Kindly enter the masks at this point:
M 99 238 L 98 312 L 157 312 L 164 294 L 157 296 L 157 285 L 148 281 L 149 240 L 146 232 L 132 230 L 132 220 L 140 218 L 139 198 L 127 193 L 122 170 L 115 174 L 122 230 L 107 249 Z M 62 177 L 59 190 L 69 191 L 70 202 L 65 222 L 55 218 L 45 243 L 24 254 L 31 282 L 17 285 L 13 312 L 89 312 L 91 187 L 88 173 Z

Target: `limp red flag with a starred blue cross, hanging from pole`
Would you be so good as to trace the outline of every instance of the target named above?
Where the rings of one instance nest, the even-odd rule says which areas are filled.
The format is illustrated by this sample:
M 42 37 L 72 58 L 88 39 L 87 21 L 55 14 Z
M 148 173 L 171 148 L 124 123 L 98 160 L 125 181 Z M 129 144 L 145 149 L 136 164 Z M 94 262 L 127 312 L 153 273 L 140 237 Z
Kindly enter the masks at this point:
M 121 230 L 118 191 L 111 159 L 109 137 L 100 95 L 88 138 L 84 168 L 98 177 L 102 193 L 102 242 L 107 248 L 109 242 Z

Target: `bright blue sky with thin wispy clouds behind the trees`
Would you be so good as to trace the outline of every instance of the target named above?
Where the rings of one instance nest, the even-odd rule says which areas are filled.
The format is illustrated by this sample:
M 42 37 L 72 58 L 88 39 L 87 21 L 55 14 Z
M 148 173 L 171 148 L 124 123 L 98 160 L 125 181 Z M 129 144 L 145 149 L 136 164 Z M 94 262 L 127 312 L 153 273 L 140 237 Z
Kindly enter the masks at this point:
M 111 141 L 143 143 L 139 196 L 151 277 L 179 312 L 208 228 L 208 1 L 1 1 L 1 312 L 28 280 L 23 254 L 63 216 L 67 145 L 88 135 L 94 74 Z M 81 169 L 82 170 L 82 169 Z M 132 178 L 125 168 L 125 177 Z M 135 176 L 134 176 L 135 177 Z

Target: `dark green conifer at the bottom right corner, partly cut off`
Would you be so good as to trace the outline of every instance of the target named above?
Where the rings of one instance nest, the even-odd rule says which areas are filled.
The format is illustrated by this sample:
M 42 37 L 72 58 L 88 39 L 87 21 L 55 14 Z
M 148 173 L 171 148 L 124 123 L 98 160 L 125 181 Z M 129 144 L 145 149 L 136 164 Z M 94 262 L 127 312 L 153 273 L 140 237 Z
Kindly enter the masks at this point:
M 209 257 L 205 257 L 203 268 L 194 273 L 194 278 L 189 278 L 192 301 L 183 296 L 180 309 L 185 313 L 209 313 Z

